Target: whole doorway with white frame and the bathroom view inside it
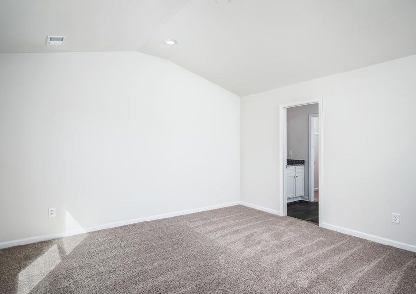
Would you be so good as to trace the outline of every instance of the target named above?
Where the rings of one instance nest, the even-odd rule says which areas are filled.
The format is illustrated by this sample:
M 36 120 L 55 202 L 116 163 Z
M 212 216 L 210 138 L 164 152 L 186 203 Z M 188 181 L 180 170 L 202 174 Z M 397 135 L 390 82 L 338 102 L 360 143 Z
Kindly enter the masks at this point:
M 280 106 L 281 215 L 322 223 L 321 99 Z

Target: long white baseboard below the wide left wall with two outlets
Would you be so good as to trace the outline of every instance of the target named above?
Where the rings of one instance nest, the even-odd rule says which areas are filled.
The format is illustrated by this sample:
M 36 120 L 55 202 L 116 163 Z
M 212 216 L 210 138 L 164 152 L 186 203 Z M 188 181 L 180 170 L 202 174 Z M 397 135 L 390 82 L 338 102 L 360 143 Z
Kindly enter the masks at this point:
M 23 238 L 23 239 L 18 239 L 18 240 L 11 240 L 11 241 L 6 241 L 6 242 L 1 242 L 0 249 L 19 246 L 19 245 L 25 245 L 29 243 L 36 243 L 36 242 L 46 241 L 46 240 L 51 240 L 51 239 L 56 239 L 56 238 L 62 238 L 62 237 L 67 237 L 67 236 L 73 236 L 73 235 L 78 235 L 78 234 L 83 234 L 83 233 L 88 233 L 88 232 L 93 232 L 93 231 L 99 231 L 99 230 L 119 227 L 123 225 L 143 222 L 143 221 L 153 221 L 153 220 L 158 220 L 158 219 L 176 217 L 176 216 L 186 215 L 190 213 L 213 210 L 213 209 L 234 206 L 234 205 L 239 205 L 239 204 L 241 204 L 240 201 L 235 201 L 235 202 L 223 203 L 223 204 L 218 204 L 218 205 L 205 206 L 205 207 L 200 207 L 200 208 L 165 213 L 165 214 L 160 214 L 160 215 L 155 215 L 155 216 L 150 216 L 150 217 L 144 217 L 144 218 L 138 218 L 138 219 L 132 219 L 132 220 L 126 220 L 126 221 L 110 222 L 110 223 L 100 224 L 100 225 L 83 228 L 83 229 L 77 229 L 77 230 L 71 230 L 71 231 L 65 231 L 65 232 L 47 234 L 47 235 L 40 235 L 40 236 L 33 236 L 33 237 L 28 237 L 28 238 Z

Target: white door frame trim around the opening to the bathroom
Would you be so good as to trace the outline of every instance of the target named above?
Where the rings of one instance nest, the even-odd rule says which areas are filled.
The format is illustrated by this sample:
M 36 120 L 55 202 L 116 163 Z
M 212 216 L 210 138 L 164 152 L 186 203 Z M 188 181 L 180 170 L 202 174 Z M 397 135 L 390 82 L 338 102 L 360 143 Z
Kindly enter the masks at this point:
M 280 130 L 279 130 L 279 141 L 280 141 L 280 173 L 279 173 L 279 183 L 280 183 L 280 193 L 279 193 L 279 205 L 280 205 L 280 215 L 286 216 L 286 197 L 285 197 L 285 173 L 286 173 L 286 162 L 287 162 L 287 108 L 308 104 L 318 103 L 319 107 L 319 226 L 323 223 L 323 207 L 324 207 L 324 197 L 323 197 L 323 107 L 322 107 L 322 98 L 290 102 L 279 105 L 279 114 L 280 114 Z

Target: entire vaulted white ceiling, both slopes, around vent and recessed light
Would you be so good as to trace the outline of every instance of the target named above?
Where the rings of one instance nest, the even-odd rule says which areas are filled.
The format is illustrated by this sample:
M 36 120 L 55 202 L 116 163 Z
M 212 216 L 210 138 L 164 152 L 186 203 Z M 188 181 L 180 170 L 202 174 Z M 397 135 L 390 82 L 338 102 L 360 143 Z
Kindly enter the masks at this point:
M 416 54 L 416 1 L 1 0 L 0 41 L 0 52 L 137 50 L 243 96 Z

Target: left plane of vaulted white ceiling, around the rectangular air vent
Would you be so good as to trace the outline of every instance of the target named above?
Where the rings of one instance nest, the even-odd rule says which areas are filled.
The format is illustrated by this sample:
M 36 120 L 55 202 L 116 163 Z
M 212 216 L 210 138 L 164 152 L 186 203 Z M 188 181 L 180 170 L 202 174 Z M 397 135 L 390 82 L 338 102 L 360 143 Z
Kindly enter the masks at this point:
M 187 0 L 0 0 L 0 52 L 137 51 Z M 62 47 L 46 37 L 66 36 Z

